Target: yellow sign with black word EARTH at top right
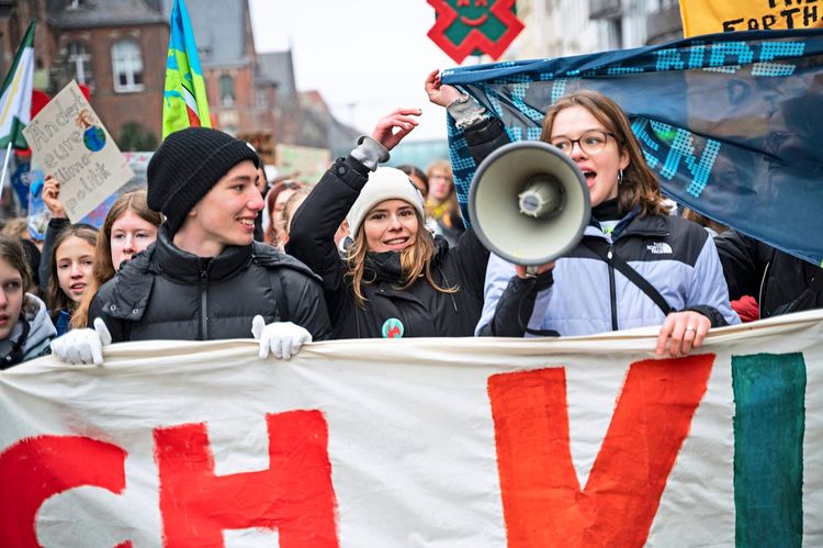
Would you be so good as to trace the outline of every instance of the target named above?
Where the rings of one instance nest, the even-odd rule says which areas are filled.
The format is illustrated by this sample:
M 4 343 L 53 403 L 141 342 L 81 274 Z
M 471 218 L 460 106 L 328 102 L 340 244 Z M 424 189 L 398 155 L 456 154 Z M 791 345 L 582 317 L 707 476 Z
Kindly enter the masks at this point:
M 684 36 L 823 27 L 816 0 L 680 0 Z

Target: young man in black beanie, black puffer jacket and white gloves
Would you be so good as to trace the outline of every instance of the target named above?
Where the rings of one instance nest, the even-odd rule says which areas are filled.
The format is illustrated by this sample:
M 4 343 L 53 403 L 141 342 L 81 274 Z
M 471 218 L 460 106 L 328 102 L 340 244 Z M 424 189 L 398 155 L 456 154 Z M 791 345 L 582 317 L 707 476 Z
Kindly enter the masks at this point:
M 148 166 L 148 205 L 166 215 L 157 242 L 121 267 L 89 307 L 93 329 L 69 332 L 53 351 L 102 364 L 109 342 L 245 338 L 289 359 L 329 338 L 319 279 L 302 262 L 253 242 L 263 209 L 253 148 L 225 133 L 169 135 Z M 91 325 L 90 325 L 91 327 Z

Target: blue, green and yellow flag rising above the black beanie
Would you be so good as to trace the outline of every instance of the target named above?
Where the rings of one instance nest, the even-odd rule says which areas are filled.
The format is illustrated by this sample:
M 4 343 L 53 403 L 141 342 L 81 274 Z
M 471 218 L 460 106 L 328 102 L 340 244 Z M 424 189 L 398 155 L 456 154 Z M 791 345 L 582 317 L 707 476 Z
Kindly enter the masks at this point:
M 169 55 L 162 105 L 162 138 L 189 126 L 211 127 L 205 80 L 183 0 L 171 7 Z

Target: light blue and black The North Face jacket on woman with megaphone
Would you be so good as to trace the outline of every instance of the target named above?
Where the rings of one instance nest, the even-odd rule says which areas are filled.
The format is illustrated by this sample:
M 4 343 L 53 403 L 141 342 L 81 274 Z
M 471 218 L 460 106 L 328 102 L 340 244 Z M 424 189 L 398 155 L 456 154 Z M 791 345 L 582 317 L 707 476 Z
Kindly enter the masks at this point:
M 585 237 L 609 242 L 613 251 L 651 282 L 674 310 L 709 306 L 724 323 L 740 323 L 729 304 L 714 243 L 697 224 L 676 216 L 641 217 L 634 211 L 618 224 L 612 235 L 605 234 L 594 222 L 586 227 Z M 500 295 L 514 276 L 514 265 L 492 255 L 483 313 L 475 334 L 493 321 Z M 590 335 L 613 331 L 615 324 L 618 329 L 630 329 L 661 325 L 665 318 L 643 290 L 583 243 L 557 259 L 553 277 L 553 284 L 538 293 L 530 329 L 551 329 L 563 336 Z

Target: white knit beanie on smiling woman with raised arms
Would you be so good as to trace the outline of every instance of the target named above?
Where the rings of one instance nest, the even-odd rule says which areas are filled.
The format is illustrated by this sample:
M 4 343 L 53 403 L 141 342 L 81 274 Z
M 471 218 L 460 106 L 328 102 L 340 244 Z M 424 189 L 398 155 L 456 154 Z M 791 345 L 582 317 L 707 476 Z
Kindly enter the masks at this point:
M 349 210 L 347 219 L 351 237 L 357 237 L 360 224 L 372 208 L 386 200 L 403 200 L 417 210 L 420 219 L 426 219 L 422 194 L 408 176 L 393 167 L 379 167 L 369 175 L 360 197 Z

